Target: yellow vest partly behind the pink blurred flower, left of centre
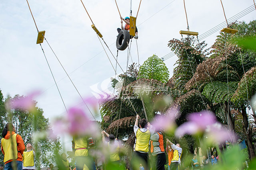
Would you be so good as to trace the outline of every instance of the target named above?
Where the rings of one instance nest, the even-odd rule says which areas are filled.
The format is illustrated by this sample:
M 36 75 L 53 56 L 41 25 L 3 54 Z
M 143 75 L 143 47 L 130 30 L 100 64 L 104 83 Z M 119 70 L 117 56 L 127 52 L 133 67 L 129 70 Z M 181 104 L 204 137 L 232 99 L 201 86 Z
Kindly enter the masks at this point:
M 75 156 L 88 156 L 87 138 L 74 138 Z

